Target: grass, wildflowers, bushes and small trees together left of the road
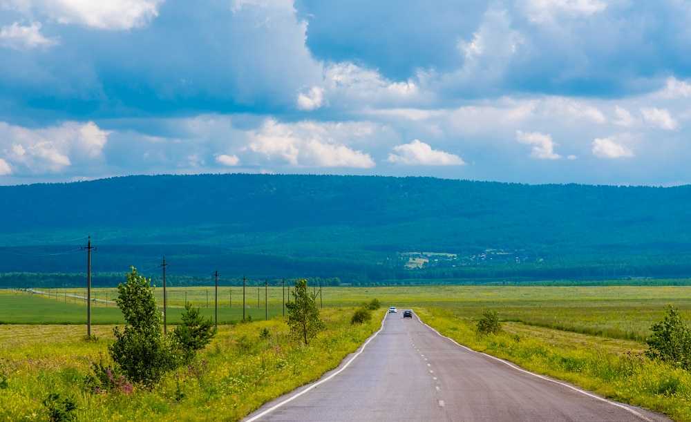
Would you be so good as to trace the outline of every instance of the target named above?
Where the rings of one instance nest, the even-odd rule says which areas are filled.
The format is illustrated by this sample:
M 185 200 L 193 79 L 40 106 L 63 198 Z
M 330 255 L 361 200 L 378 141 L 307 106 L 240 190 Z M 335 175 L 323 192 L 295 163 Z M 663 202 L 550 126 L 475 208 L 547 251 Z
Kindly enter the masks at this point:
M 379 325 L 351 325 L 348 308 L 319 311 L 297 287 L 285 320 L 216 333 L 188 306 L 164 336 L 148 280 L 133 271 L 118 299 L 124 329 L 96 326 L 87 339 L 76 326 L 0 325 L 0 420 L 240 419 L 336 367 Z M 300 316 L 306 334 L 287 324 Z

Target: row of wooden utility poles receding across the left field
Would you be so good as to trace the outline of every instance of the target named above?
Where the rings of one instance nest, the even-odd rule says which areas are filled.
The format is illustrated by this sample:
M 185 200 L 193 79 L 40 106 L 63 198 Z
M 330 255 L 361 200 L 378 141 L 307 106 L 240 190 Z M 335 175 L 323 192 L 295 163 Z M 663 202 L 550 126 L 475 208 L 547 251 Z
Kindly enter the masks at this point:
M 86 247 L 82 248 L 83 250 L 86 251 L 86 335 L 88 337 L 91 337 L 91 251 L 94 251 L 96 248 L 91 245 L 91 236 L 88 237 L 88 242 L 86 244 Z M 166 291 L 166 269 L 169 266 L 169 264 L 166 262 L 166 258 L 163 257 L 163 260 L 160 264 L 160 267 L 162 269 L 162 277 L 163 277 L 163 332 L 164 334 L 167 334 L 168 332 L 168 323 L 167 323 L 167 311 L 168 311 L 168 296 L 167 296 L 167 291 Z M 218 329 L 218 277 L 220 274 L 218 274 L 218 270 L 214 271 L 214 324 L 216 325 L 216 328 Z M 282 304 L 282 314 L 285 316 L 285 279 L 281 281 L 281 285 L 283 287 L 283 304 Z M 245 291 L 247 289 L 247 278 L 243 277 L 243 321 L 246 320 L 246 311 L 247 307 L 245 304 Z M 324 306 L 323 303 L 323 298 L 321 294 L 321 283 L 319 285 L 319 292 L 316 291 L 316 287 L 312 286 L 313 289 L 313 294 L 314 298 L 316 298 L 317 294 L 319 294 L 319 303 L 320 307 Z M 259 304 L 259 294 L 260 294 L 260 287 L 257 286 L 257 307 L 260 306 Z M 232 307 L 232 291 L 230 293 L 230 306 Z M 288 287 L 288 296 L 290 296 L 290 287 Z M 207 291 L 207 303 L 208 303 L 208 291 Z M 269 319 L 269 281 L 265 280 L 264 281 L 264 304 L 265 304 L 265 319 Z M 185 294 L 185 305 L 187 305 L 187 293 Z

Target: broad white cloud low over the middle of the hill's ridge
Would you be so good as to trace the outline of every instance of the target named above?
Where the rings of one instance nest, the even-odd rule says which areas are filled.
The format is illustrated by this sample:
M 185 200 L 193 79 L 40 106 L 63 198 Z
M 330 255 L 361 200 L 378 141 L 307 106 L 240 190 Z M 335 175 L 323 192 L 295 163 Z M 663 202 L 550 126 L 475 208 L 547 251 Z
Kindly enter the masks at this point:
M 281 124 L 267 119 L 258 131 L 249 133 L 248 148 L 269 160 L 282 160 L 292 166 L 368 169 L 375 166 L 369 154 L 339 141 L 367 133 L 368 126 L 358 123 Z

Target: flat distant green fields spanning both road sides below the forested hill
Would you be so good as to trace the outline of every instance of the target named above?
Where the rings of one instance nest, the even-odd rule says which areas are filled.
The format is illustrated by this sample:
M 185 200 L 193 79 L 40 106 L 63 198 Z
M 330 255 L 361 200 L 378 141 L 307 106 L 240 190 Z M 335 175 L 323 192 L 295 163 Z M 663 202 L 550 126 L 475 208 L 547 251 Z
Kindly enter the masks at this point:
M 162 289 L 155 289 L 162 304 Z M 51 298 L 0 291 L 0 321 L 3 323 L 84 323 L 84 301 L 65 296 L 83 294 L 83 289 L 46 290 Z M 242 319 L 242 287 L 219 287 L 220 323 Z M 245 312 L 254 320 L 265 317 L 265 291 L 248 287 Z M 93 297 L 112 300 L 115 289 L 93 289 Z M 287 289 L 286 289 L 287 294 Z M 207 301 L 208 295 L 208 301 Z M 169 320 L 176 323 L 184 300 L 200 307 L 206 316 L 214 314 L 214 287 L 175 287 L 167 291 Z M 282 313 L 283 290 L 269 287 L 268 311 Z M 351 307 L 379 298 L 384 305 L 438 307 L 450 309 L 459 318 L 477 318 L 484 309 L 496 309 L 502 320 L 557 328 L 607 338 L 645 341 L 650 325 L 662 318 L 665 307 L 674 305 L 691 321 L 691 287 L 513 287 L 513 286 L 426 286 L 426 287 L 327 287 L 322 290 L 325 307 Z M 232 297 L 232 301 L 231 301 Z M 257 298 L 259 303 L 257 303 Z M 113 303 L 96 303 L 93 323 L 120 323 Z

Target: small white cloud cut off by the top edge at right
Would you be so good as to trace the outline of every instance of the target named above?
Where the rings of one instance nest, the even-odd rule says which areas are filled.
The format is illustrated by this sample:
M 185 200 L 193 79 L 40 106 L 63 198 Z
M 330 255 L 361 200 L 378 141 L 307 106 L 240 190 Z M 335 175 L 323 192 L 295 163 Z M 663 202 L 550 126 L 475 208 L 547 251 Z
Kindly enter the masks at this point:
M 558 17 L 589 17 L 607 8 L 601 0 L 524 0 L 523 9 L 536 23 L 553 22 Z

